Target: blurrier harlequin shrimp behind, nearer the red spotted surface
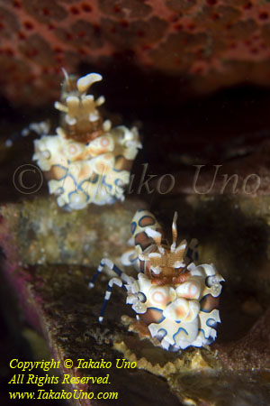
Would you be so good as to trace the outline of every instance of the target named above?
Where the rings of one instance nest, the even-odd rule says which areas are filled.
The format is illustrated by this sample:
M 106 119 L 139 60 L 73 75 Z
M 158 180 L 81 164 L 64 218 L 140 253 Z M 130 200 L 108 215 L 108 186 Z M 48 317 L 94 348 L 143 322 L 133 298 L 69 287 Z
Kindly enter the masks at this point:
M 141 148 L 137 128 L 112 128 L 110 120 L 103 121 L 98 109 L 104 97 L 94 99 L 87 94 L 102 80 L 101 75 L 90 73 L 77 78 L 68 76 L 65 70 L 64 74 L 60 102 L 54 105 L 61 112 L 56 134 L 49 135 L 45 122 L 32 123 L 23 131 L 23 135 L 31 131 L 41 135 L 34 141 L 32 159 L 46 172 L 49 193 L 57 196 L 60 207 L 80 209 L 89 203 L 123 200 L 132 162 Z M 6 143 L 11 144 L 12 140 Z

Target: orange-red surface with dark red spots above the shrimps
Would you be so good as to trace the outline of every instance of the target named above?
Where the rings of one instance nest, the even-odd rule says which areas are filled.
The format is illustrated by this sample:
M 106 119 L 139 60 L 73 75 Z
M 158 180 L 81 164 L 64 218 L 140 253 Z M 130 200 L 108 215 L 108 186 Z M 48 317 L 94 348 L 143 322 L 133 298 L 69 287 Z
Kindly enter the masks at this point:
M 270 83 L 270 5 L 261 0 L 2 0 L 0 31 L 1 87 L 17 102 L 56 97 L 63 66 L 126 51 L 200 89 L 247 75 Z

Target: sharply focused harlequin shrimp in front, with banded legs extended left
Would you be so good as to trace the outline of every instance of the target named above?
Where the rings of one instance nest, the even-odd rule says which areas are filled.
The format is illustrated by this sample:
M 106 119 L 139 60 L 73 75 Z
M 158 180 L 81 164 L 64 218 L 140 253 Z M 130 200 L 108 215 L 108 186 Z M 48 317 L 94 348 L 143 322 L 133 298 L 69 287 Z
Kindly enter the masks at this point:
M 105 266 L 115 272 L 117 277 L 109 281 L 99 321 L 103 321 L 112 286 L 118 285 L 127 291 L 126 303 L 148 327 L 151 337 L 171 351 L 206 346 L 215 340 L 220 323 L 220 281 L 224 281 L 212 264 L 193 262 L 197 260 L 197 240 L 190 245 L 185 240 L 176 244 L 176 220 L 175 212 L 173 242 L 169 245 L 156 218 L 147 210 L 138 210 L 131 222 L 135 247 L 121 256 L 123 265 L 137 269 L 138 279 L 104 258 L 89 283 L 93 288 Z

